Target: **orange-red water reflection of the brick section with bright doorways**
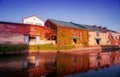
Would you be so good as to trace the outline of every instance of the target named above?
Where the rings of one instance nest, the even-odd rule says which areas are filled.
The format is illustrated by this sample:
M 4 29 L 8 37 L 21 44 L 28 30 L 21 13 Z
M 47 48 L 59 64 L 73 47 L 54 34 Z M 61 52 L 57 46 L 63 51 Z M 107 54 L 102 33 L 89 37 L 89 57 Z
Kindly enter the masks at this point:
M 49 77 L 49 75 L 56 70 L 55 56 L 46 57 L 41 53 L 39 55 L 37 54 L 36 56 L 35 55 L 28 56 L 26 60 L 28 61 L 28 67 L 25 69 L 27 71 L 28 77 L 42 77 L 42 76 L 47 77 L 47 75 Z

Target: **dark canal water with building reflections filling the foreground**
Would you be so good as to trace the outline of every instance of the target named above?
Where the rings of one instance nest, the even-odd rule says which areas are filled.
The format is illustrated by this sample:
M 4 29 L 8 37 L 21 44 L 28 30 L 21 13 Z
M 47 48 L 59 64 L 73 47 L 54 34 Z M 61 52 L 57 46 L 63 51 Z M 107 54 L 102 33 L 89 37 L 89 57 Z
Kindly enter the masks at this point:
M 120 77 L 120 50 L 0 55 L 0 77 Z

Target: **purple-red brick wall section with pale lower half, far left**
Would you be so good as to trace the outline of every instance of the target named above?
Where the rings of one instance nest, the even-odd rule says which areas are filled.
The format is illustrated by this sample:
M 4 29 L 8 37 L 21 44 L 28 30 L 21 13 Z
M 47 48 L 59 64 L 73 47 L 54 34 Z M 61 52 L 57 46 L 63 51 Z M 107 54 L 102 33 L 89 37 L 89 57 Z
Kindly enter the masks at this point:
M 24 35 L 29 33 L 29 26 L 0 23 L 0 43 L 24 43 Z

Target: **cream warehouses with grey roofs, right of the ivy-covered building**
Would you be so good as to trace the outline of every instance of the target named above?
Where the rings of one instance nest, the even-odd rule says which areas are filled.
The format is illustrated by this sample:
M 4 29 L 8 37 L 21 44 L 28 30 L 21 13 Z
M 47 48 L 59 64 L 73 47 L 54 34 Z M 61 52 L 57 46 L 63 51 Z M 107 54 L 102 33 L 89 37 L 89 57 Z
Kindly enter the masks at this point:
M 118 45 L 120 33 L 112 31 L 102 26 L 90 26 L 75 24 L 78 27 L 84 27 L 89 31 L 89 45 Z

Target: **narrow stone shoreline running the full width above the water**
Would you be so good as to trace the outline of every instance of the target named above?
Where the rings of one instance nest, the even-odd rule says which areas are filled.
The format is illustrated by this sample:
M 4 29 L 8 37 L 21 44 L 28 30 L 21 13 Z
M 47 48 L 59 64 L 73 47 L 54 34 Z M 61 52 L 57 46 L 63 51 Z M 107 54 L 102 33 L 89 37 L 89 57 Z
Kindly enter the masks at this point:
M 0 55 L 8 54 L 34 54 L 34 53 L 88 53 L 88 52 L 102 52 L 102 51 L 115 51 L 120 50 L 118 45 L 105 45 L 105 46 L 87 46 L 87 47 L 76 47 L 68 50 L 24 50 L 15 52 L 0 52 Z

